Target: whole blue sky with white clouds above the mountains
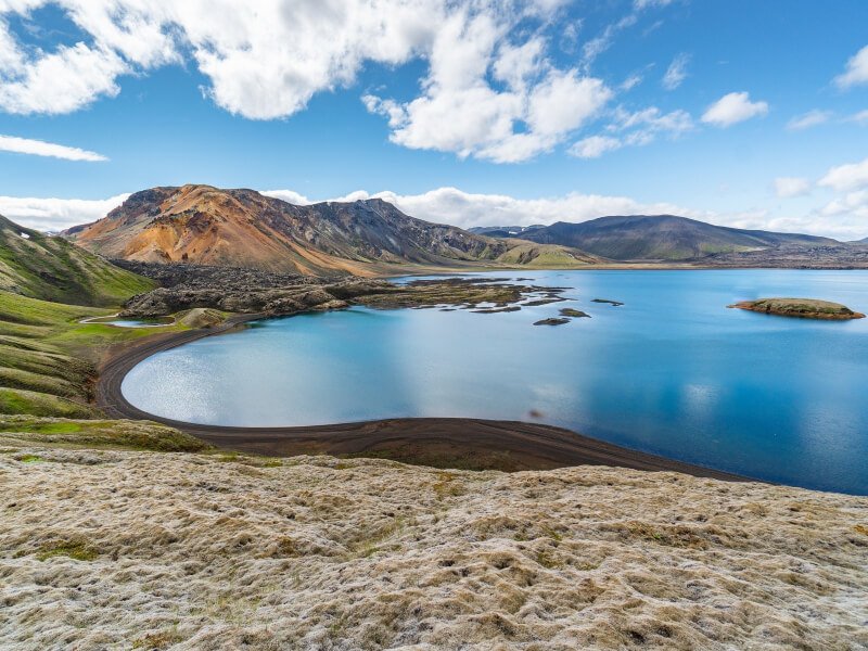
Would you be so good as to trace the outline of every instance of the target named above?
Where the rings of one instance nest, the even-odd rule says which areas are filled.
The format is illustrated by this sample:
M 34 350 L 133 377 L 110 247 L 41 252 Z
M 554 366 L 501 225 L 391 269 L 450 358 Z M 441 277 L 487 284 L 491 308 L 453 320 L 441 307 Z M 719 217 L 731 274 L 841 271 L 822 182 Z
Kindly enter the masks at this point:
M 864 0 L 174 4 L 0 0 L 0 213 L 204 182 L 868 235 Z

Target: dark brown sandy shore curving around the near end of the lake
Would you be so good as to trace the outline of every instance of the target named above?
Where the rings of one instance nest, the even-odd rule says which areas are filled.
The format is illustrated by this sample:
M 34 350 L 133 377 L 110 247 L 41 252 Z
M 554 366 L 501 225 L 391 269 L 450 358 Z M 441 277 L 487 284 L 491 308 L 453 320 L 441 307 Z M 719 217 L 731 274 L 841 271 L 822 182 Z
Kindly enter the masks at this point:
M 226 427 L 164 419 L 130 405 L 120 385 L 141 360 L 205 336 L 227 333 L 263 315 L 241 315 L 208 330 L 163 333 L 113 350 L 100 368 L 97 401 L 113 418 L 153 420 L 189 432 L 219 447 L 269 456 L 327 454 L 385 457 L 423 465 L 468 470 L 549 470 L 570 465 L 618 465 L 669 470 L 695 476 L 740 480 L 737 475 L 666 459 L 582 436 L 575 432 L 516 421 L 418 418 L 309 427 Z

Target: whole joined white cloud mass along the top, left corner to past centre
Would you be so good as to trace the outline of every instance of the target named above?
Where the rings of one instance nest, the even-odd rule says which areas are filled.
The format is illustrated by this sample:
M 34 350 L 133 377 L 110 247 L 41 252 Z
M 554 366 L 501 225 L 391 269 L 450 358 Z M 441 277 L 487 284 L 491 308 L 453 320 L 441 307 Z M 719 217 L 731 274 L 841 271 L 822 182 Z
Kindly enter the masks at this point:
M 18 42 L 3 20 L 47 3 L 22 0 L 0 4 L 0 108 L 68 113 L 116 95 L 124 75 L 192 62 L 217 105 L 273 119 L 348 86 L 368 63 L 422 60 L 427 72 L 417 98 L 363 98 L 386 117 L 393 142 L 524 161 L 562 142 L 613 94 L 548 56 L 564 1 L 58 0 L 89 39 L 43 51 Z

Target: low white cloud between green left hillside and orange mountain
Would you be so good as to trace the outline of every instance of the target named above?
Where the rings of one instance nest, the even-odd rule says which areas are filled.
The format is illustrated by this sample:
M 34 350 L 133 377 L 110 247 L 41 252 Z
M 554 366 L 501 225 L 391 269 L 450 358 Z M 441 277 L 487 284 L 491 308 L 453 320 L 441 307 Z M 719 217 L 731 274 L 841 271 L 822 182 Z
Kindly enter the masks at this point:
M 0 215 L 29 228 L 62 230 L 105 217 L 128 196 L 118 194 L 104 200 L 0 196 Z

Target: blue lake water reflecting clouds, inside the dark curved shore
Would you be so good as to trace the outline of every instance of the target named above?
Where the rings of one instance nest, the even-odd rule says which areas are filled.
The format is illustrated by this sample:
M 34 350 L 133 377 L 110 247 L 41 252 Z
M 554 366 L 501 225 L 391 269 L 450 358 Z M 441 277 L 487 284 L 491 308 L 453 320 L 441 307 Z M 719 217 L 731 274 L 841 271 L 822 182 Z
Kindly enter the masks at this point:
M 868 494 L 868 319 L 726 308 L 808 296 L 868 311 L 868 272 L 492 276 L 573 288 L 575 301 L 497 315 L 353 308 L 265 320 L 144 360 L 124 395 L 151 413 L 225 425 L 539 420 L 758 478 Z M 532 326 L 561 307 L 591 318 Z

